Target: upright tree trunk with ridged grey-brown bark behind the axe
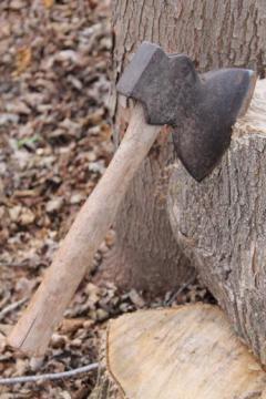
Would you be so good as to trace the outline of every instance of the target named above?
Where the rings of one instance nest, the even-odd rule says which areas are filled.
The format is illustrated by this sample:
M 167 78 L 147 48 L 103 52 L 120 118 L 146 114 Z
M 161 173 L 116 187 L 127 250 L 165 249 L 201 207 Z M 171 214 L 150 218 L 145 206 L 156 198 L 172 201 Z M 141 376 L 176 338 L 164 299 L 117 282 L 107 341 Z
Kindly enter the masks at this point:
M 198 71 L 244 66 L 264 74 L 265 0 L 115 0 L 113 31 L 114 82 L 143 40 L 158 43 L 166 52 L 187 53 Z M 113 99 L 117 144 L 130 108 Z M 167 166 L 173 158 L 171 136 L 166 140 L 162 134 L 120 208 L 116 245 L 103 272 L 120 285 L 162 291 L 193 274 L 191 262 L 173 238 L 165 211 Z

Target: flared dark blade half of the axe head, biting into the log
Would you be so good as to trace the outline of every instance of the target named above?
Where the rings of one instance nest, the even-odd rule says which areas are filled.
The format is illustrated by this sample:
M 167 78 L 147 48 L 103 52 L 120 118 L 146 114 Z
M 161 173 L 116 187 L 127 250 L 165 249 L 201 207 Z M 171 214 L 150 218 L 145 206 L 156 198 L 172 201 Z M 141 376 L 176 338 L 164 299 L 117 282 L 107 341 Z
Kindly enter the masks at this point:
M 187 112 L 173 132 L 176 154 L 197 182 L 212 173 L 228 149 L 232 127 L 249 105 L 256 73 L 224 69 L 201 78 L 196 109 Z

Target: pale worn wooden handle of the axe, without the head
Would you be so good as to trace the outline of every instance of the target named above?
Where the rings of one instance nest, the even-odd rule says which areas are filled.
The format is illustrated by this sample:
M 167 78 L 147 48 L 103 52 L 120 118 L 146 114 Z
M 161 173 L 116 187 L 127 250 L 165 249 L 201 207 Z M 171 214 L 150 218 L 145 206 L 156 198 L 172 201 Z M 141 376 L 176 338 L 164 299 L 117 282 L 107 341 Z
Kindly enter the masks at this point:
M 105 174 L 79 212 L 30 305 L 8 342 L 42 356 L 95 250 L 114 222 L 129 183 L 154 143 L 160 126 L 147 125 L 141 105 L 133 110 L 124 139 Z

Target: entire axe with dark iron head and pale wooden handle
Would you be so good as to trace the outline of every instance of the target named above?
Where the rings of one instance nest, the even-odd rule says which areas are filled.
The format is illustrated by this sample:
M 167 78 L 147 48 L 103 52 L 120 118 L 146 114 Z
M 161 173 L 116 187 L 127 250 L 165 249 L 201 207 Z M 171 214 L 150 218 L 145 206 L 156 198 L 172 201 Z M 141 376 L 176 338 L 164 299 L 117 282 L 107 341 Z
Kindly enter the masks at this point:
M 126 133 L 8 337 L 11 346 L 28 355 L 45 352 L 161 126 L 173 127 L 176 153 L 200 182 L 229 145 L 232 125 L 247 110 L 255 81 L 255 73 L 245 69 L 197 74 L 188 57 L 141 44 L 117 83 L 121 94 L 136 100 Z

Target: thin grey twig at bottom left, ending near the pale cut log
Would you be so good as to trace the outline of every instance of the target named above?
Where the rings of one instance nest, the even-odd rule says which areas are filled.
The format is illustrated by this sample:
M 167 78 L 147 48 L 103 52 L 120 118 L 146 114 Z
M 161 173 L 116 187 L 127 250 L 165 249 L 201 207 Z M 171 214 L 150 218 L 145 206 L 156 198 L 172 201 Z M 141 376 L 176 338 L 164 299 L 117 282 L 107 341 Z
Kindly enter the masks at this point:
M 13 378 L 0 378 L 0 385 L 16 385 L 16 383 L 38 382 L 38 381 L 47 381 L 47 380 L 51 381 L 61 378 L 73 377 L 82 372 L 95 370 L 98 368 L 99 368 L 99 364 L 91 364 L 88 366 L 79 367 L 74 370 L 63 371 L 63 372 L 51 372 L 51 374 L 44 374 L 38 376 L 21 376 Z

